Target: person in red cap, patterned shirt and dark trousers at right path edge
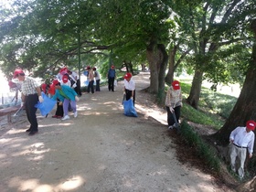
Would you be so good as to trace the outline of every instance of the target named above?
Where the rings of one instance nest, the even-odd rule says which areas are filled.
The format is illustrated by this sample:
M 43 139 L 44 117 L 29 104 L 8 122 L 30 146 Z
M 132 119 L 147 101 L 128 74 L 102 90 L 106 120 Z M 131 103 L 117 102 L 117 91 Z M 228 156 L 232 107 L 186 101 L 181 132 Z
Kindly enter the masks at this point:
M 172 113 L 175 112 L 176 121 L 178 122 L 180 108 L 182 107 L 182 92 L 178 80 L 174 80 L 168 89 L 165 97 L 165 106 L 167 111 L 168 129 L 173 129 L 176 127 L 176 123 Z

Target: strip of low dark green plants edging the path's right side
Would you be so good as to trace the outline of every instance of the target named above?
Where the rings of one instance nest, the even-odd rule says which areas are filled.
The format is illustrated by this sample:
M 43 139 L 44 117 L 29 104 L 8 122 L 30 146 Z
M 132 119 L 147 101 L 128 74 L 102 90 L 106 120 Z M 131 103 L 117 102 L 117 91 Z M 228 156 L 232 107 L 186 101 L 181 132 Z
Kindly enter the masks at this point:
M 186 121 L 181 123 L 180 136 L 188 146 L 193 146 L 196 149 L 197 155 L 205 161 L 210 169 L 219 172 L 220 160 L 218 155 L 216 155 L 214 150 L 202 140 Z

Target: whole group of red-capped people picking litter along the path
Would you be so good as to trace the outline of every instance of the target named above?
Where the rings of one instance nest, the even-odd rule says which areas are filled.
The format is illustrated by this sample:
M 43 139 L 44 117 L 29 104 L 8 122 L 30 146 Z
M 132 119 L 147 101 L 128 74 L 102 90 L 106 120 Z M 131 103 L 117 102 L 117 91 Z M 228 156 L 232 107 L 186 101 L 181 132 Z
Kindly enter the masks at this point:
M 95 70 L 90 67 L 87 68 L 89 71 L 89 79 L 90 79 L 90 89 L 93 91 L 93 78 L 95 78 Z M 93 72 L 94 70 L 94 72 Z M 114 72 L 113 72 L 114 71 Z M 71 106 L 74 117 L 78 116 L 76 101 L 79 101 L 80 93 L 75 91 L 74 87 L 71 83 L 69 83 L 69 77 L 66 75 L 68 72 L 69 75 L 72 74 L 68 69 L 60 69 L 59 70 L 59 78 L 61 80 L 55 79 L 52 81 L 51 85 L 48 86 L 48 93 L 52 95 L 52 100 L 58 100 L 58 107 L 63 110 L 63 118 L 62 120 L 69 119 L 69 104 Z M 62 75 L 62 76 L 61 76 Z M 99 77 L 100 74 L 97 74 L 96 77 Z M 34 135 L 38 132 L 38 124 L 37 124 L 37 108 L 35 105 L 37 101 L 43 102 L 42 91 L 47 90 L 47 87 L 42 87 L 37 84 L 37 81 L 26 77 L 25 73 L 22 69 L 16 69 L 14 71 L 14 78 L 21 81 L 21 95 L 22 102 L 21 106 L 25 105 L 27 120 L 30 123 L 28 132 L 29 135 Z M 132 74 L 127 72 L 124 77 L 124 86 L 123 86 L 123 94 L 125 94 L 126 100 L 133 100 L 133 105 L 135 101 L 135 82 L 132 80 Z M 115 80 L 115 70 L 114 67 L 108 72 L 108 80 L 109 80 L 109 91 L 114 91 L 113 88 L 113 80 Z M 77 83 L 78 79 L 74 78 L 74 81 Z M 79 84 L 79 83 L 78 83 Z M 78 86 L 78 85 L 77 85 Z M 99 87 L 98 87 L 99 88 Z M 97 88 L 96 88 L 97 89 Z M 100 89 L 100 88 L 99 88 Z M 100 91 L 100 90 L 98 90 Z M 176 121 L 179 121 L 180 110 L 182 107 L 182 91 L 180 87 L 180 83 L 178 80 L 174 80 L 171 86 L 168 88 L 166 97 L 165 97 L 165 106 L 167 112 L 167 123 L 168 128 L 173 129 L 176 128 Z M 176 118 L 176 119 L 175 119 Z M 231 144 L 230 148 L 230 165 L 231 170 L 236 171 L 236 159 L 240 159 L 240 167 L 238 168 L 238 173 L 240 178 L 244 176 L 244 162 L 246 159 L 247 151 L 249 152 L 249 157 L 251 158 L 253 152 L 253 145 L 255 140 L 255 134 L 252 132 L 256 127 L 256 123 L 252 120 L 246 123 L 246 126 L 239 126 L 234 129 L 229 136 L 229 142 Z

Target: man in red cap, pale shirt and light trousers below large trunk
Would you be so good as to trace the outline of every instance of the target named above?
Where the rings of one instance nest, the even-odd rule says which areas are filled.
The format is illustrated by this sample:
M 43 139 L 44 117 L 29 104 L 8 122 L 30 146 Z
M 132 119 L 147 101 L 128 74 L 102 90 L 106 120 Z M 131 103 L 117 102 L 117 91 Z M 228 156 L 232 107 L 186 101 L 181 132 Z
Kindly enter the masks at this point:
M 230 148 L 230 164 L 232 171 L 236 172 L 236 159 L 240 159 L 240 167 L 238 173 L 240 179 L 244 176 L 244 162 L 246 159 L 246 151 L 249 152 L 249 158 L 252 157 L 255 134 L 251 131 L 255 129 L 256 123 L 252 120 L 246 123 L 245 127 L 237 127 L 229 136 Z

